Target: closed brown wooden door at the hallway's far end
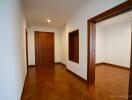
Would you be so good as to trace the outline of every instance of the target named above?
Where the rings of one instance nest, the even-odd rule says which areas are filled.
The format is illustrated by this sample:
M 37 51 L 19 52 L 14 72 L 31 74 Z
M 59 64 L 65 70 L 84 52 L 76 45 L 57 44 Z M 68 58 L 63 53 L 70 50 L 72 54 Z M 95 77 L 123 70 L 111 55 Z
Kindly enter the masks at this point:
M 35 32 L 36 65 L 54 64 L 54 33 Z

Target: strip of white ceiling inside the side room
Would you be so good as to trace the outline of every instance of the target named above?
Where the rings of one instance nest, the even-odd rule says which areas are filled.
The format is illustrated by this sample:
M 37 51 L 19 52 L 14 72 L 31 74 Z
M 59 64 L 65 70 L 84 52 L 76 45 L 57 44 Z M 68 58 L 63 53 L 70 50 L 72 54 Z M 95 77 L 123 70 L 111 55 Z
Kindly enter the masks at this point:
M 102 21 L 97 23 L 99 27 L 110 27 L 113 24 L 126 22 L 126 21 L 132 21 L 132 11 L 123 13 L 121 15 L 118 15 L 116 17 L 110 18 L 108 20 Z

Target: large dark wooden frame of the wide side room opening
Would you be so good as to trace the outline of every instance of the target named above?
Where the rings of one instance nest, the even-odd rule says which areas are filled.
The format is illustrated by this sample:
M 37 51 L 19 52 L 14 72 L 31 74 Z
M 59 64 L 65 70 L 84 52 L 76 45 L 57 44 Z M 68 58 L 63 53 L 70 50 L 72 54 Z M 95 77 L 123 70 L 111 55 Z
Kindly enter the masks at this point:
M 87 81 L 88 84 L 95 83 L 95 48 L 96 48 L 96 23 L 107 20 L 114 16 L 120 15 L 132 9 L 132 0 L 128 0 L 110 10 L 107 10 L 87 21 L 88 29 L 88 64 L 87 64 Z M 129 95 L 132 96 L 132 49 L 131 49 L 131 66 L 129 80 Z M 132 99 L 132 98 L 131 98 Z M 131 100 L 129 99 L 129 100 Z

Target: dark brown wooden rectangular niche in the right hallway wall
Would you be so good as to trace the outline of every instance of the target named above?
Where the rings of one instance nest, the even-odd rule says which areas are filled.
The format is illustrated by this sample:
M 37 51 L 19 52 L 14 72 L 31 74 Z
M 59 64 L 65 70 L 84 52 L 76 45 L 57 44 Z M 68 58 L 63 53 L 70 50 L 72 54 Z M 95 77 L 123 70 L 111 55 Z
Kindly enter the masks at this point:
M 69 60 L 79 63 L 79 30 L 69 33 Z

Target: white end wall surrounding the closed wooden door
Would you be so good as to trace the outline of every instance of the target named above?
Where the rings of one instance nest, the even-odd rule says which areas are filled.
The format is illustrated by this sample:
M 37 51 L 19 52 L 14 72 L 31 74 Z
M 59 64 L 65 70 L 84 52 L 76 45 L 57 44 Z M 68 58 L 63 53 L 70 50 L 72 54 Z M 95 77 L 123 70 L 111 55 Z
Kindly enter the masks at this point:
M 28 57 L 29 65 L 35 65 L 34 31 L 54 32 L 55 34 L 55 62 L 61 62 L 61 35 L 60 30 L 51 27 L 28 27 Z

